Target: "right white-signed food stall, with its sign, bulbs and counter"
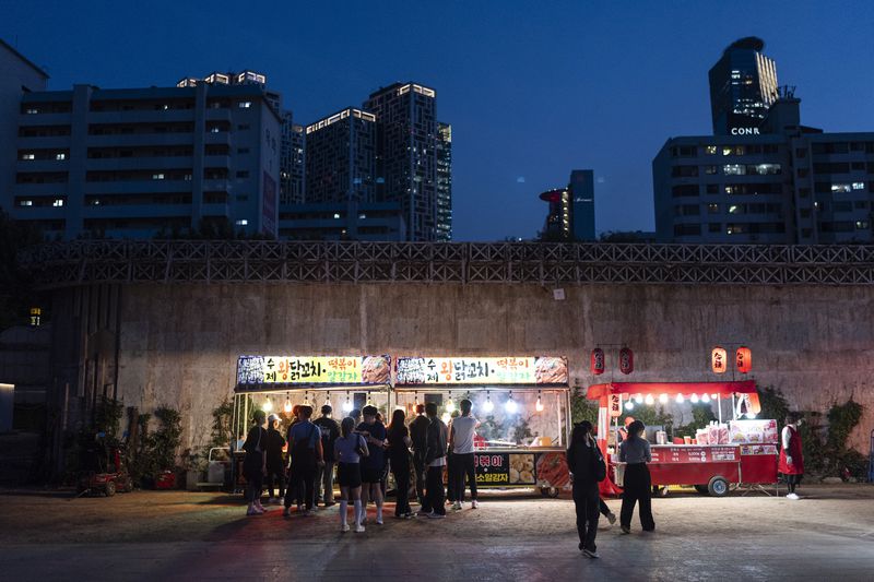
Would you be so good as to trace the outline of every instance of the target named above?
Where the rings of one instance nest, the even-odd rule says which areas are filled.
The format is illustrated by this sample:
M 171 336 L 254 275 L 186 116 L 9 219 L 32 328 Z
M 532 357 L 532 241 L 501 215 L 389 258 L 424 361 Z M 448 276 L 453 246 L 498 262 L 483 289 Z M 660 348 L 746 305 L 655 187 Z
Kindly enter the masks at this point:
M 434 402 L 449 425 L 459 402 L 472 403 L 476 485 L 536 488 L 557 496 L 570 487 L 567 360 L 562 357 L 399 357 L 392 405 L 415 415 Z

